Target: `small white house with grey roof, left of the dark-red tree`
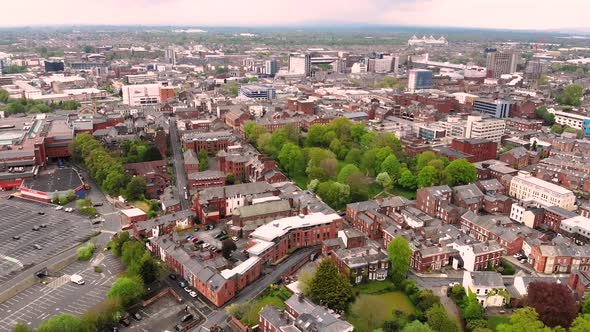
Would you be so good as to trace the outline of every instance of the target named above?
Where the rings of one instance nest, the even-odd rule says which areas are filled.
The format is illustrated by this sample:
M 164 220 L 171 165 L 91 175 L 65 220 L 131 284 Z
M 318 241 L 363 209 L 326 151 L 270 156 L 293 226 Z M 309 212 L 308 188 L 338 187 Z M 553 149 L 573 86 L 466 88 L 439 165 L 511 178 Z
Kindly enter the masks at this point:
M 484 308 L 501 307 L 506 304 L 506 297 L 503 294 L 508 291 L 504 287 L 502 275 L 497 272 L 465 271 L 463 272 L 463 287 L 467 295 L 469 295 L 469 291 L 473 292 L 477 301 Z

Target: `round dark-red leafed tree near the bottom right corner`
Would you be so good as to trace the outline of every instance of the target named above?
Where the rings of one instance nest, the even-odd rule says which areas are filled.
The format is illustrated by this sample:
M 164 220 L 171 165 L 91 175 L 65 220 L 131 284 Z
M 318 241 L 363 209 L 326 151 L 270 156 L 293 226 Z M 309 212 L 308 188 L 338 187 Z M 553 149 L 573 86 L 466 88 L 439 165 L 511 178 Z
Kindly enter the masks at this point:
M 564 284 L 531 282 L 527 294 L 527 306 L 534 308 L 547 326 L 567 328 L 578 314 L 576 301 Z

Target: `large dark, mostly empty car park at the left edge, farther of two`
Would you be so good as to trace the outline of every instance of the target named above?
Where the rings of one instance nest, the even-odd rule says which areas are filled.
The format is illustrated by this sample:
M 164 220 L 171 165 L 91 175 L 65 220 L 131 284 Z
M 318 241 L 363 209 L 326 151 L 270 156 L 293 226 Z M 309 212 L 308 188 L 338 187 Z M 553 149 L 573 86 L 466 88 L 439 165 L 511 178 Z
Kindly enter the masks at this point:
M 41 226 L 33 230 L 35 226 Z M 87 217 L 20 198 L 0 202 L 0 284 L 89 238 Z M 16 237 L 16 238 L 15 238 Z M 38 249 L 34 246 L 38 245 Z

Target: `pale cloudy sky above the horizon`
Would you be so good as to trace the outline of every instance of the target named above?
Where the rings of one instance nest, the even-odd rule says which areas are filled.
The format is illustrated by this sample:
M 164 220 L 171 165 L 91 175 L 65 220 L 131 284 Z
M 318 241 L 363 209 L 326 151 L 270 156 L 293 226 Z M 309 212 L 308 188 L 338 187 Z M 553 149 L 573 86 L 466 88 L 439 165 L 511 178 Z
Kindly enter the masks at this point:
M 370 23 L 502 29 L 588 27 L 589 0 L 2 0 L 0 26 Z M 18 13 L 18 15 L 16 15 Z

